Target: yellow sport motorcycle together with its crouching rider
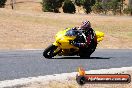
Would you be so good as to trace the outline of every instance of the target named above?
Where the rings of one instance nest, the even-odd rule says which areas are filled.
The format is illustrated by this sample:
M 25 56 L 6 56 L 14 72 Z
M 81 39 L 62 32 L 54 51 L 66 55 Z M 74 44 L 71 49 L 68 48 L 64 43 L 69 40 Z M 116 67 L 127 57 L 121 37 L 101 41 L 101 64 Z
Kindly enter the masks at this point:
M 96 50 L 97 43 L 103 40 L 104 33 L 94 31 L 89 21 L 82 22 L 80 27 L 66 28 L 55 36 L 55 42 L 49 45 L 43 52 L 45 58 L 54 56 L 78 55 L 90 58 Z

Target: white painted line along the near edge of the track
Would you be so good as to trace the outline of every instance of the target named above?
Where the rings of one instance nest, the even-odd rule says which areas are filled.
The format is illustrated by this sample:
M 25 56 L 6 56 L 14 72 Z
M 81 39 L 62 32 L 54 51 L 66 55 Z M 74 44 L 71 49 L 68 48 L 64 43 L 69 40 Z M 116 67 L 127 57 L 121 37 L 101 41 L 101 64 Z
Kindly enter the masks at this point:
M 132 67 L 90 70 L 90 71 L 86 71 L 86 74 L 107 74 L 107 73 L 114 74 L 129 70 L 132 71 Z M 46 76 L 38 76 L 38 77 L 21 78 L 14 80 L 5 80 L 5 81 L 0 81 L 0 88 L 24 85 L 36 81 L 48 82 L 50 80 L 66 80 L 69 77 L 76 77 L 76 74 L 77 72 L 73 72 L 73 73 L 62 73 L 62 74 L 54 74 L 54 75 L 46 75 Z

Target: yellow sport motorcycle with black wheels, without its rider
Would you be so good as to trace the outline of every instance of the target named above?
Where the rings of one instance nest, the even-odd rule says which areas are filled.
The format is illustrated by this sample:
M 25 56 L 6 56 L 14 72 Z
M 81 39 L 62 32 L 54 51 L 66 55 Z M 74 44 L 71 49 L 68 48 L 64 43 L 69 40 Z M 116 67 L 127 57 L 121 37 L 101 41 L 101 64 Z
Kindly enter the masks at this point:
M 87 50 L 81 50 L 70 43 L 71 41 L 75 40 L 78 33 L 81 32 L 79 30 L 72 30 L 71 28 L 66 28 L 65 30 L 59 31 L 55 36 L 56 41 L 44 50 L 43 56 L 45 58 L 73 55 L 90 57 L 90 55 L 95 51 L 97 44 L 103 40 L 104 33 L 95 31 L 95 41 L 91 44 L 90 48 L 87 48 Z

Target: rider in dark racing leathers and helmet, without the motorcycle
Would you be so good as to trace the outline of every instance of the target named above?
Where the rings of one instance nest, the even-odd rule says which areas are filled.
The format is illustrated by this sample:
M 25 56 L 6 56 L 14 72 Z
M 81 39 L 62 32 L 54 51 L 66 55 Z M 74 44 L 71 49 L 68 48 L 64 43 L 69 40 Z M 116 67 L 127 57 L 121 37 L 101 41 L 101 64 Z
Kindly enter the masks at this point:
M 91 28 L 91 23 L 89 21 L 83 21 L 81 27 L 75 27 L 73 29 L 82 30 L 82 34 L 79 34 L 76 39 L 71 42 L 71 44 L 73 44 L 74 46 L 79 48 L 90 48 L 93 42 L 97 43 L 95 31 Z

